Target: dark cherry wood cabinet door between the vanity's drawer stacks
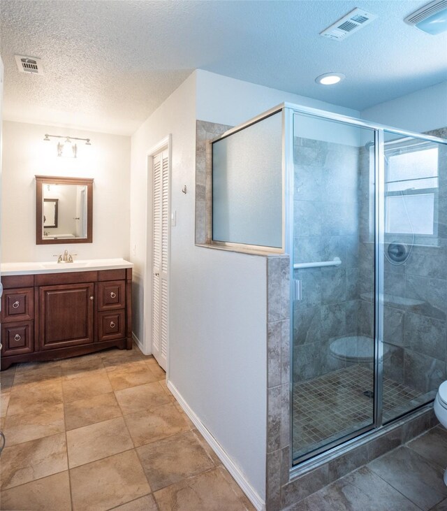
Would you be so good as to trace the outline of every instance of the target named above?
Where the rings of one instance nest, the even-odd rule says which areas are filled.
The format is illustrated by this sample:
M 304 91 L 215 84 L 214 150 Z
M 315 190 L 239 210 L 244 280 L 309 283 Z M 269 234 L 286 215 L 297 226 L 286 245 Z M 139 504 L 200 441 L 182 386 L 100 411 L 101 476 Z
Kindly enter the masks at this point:
M 39 287 L 39 345 L 52 350 L 93 343 L 94 285 Z

